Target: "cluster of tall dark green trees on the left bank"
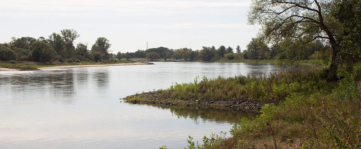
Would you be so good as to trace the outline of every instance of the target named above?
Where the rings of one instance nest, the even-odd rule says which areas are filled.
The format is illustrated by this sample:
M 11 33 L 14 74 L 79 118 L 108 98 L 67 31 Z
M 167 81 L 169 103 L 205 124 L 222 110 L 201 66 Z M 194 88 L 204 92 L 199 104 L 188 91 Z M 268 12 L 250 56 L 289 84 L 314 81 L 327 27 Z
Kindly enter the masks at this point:
M 64 29 L 60 34 L 53 32 L 48 39 L 39 37 L 12 37 L 8 43 L 0 44 L 0 60 L 29 60 L 35 62 L 80 62 L 81 60 L 99 62 L 109 60 L 109 40 L 99 37 L 88 50 L 87 43 L 74 45 L 79 33 Z

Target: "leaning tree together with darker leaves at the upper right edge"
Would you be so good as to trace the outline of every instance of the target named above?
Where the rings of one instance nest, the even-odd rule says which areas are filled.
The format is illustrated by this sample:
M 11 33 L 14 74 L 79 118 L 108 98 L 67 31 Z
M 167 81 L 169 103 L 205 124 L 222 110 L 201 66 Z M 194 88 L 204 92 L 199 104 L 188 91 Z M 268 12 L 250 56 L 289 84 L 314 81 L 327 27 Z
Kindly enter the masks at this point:
M 360 48 L 354 46 L 360 45 L 361 37 L 359 3 L 357 0 L 254 0 L 248 22 L 262 26 L 260 39 L 280 48 L 277 56 L 280 61 L 294 61 L 301 50 L 317 39 L 329 44 L 332 58 L 327 80 L 331 81 L 336 79 L 343 63 L 352 62 L 351 57 L 359 58 Z

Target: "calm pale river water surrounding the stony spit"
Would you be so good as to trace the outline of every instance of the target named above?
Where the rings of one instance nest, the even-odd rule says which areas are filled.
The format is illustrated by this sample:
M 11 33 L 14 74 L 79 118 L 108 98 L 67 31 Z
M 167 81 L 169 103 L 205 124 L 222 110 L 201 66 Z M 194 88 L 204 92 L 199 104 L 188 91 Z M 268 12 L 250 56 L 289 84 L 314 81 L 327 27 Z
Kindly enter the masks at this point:
M 155 63 L 0 72 L 0 148 L 183 148 L 229 131 L 244 113 L 120 102 L 127 95 L 273 64 Z M 229 132 L 228 132 L 229 134 Z

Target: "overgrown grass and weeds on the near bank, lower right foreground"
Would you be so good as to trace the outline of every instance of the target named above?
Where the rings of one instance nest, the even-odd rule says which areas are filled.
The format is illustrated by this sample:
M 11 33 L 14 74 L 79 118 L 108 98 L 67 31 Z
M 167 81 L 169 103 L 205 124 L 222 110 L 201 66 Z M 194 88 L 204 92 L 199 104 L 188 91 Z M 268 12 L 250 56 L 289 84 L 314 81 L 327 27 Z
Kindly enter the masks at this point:
M 243 118 L 234 125 L 230 130 L 232 137 L 200 147 L 361 148 L 360 75 L 361 63 L 340 72 L 342 79 L 331 83 L 324 81 L 322 71 L 281 73 L 265 79 L 241 77 L 239 81 L 245 85 L 247 81 L 242 80 L 269 82 L 265 84 L 278 87 L 285 85 L 287 79 L 297 81 L 286 81 L 289 88 L 295 89 L 278 106 L 264 105 L 259 116 Z M 298 85 L 301 87 L 292 87 Z

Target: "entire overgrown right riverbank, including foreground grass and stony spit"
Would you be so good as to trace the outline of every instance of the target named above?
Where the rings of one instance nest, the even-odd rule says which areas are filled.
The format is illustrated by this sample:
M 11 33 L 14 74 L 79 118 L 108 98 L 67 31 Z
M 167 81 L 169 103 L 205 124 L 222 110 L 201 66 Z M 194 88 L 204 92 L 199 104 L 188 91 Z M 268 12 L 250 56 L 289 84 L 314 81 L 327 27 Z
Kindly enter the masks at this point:
M 339 81 L 327 82 L 326 74 L 326 69 L 315 69 L 268 76 L 203 77 L 127 96 L 125 101 L 240 109 L 247 105 L 235 105 L 261 105 L 253 108 L 260 113 L 257 117 L 242 118 L 233 126 L 231 137 L 206 138 L 199 148 L 360 148 L 361 115 L 356 113 L 361 113 L 361 64 L 343 68 Z M 188 143 L 197 147 L 192 140 Z

